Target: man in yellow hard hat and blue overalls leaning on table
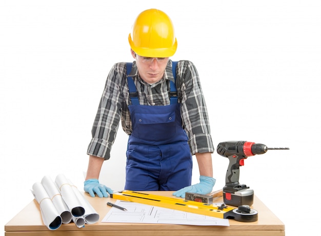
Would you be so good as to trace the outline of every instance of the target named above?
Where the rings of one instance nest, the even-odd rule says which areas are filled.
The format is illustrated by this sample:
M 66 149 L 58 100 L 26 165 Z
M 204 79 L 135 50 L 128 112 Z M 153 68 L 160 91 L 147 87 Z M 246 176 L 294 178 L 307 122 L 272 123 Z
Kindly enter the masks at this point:
M 174 81 L 169 57 L 177 41 L 171 19 L 157 9 L 143 11 L 128 40 L 135 61 L 129 69 L 126 63 L 116 63 L 108 75 L 88 147 L 84 190 L 99 197 L 112 193 L 98 178 L 121 122 L 129 135 L 125 189 L 176 191 L 173 195 L 182 198 L 186 192 L 210 193 L 215 184 L 214 148 L 207 108 L 191 62 L 177 63 Z M 170 81 L 175 85 L 171 87 Z M 130 87 L 135 91 L 130 93 Z M 173 87 L 176 100 L 175 95 L 170 98 Z M 200 183 L 191 186 L 192 154 Z

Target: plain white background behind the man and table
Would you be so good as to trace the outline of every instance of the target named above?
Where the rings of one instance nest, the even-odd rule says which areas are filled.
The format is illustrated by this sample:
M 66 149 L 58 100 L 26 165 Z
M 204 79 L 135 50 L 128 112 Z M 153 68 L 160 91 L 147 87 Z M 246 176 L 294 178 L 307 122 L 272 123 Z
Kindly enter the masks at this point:
M 199 72 L 214 146 L 245 140 L 289 151 L 245 161 L 250 186 L 287 235 L 319 222 L 321 3 L 315 1 L 1 1 L 0 195 L 2 230 L 33 196 L 34 182 L 64 173 L 83 189 L 91 126 L 107 74 L 132 61 L 139 12 L 175 25 L 172 60 Z M 124 188 L 127 136 L 119 129 L 100 181 Z M 228 160 L 212 155 L 214 190 Z M 195 162 L 193 183 L 198 183 Z M 104 206 L 102 206 L 104 207 Z M 260 212 L 259 212 L 260 213 Z M 1 233 L 3 233 L 1 230 Z

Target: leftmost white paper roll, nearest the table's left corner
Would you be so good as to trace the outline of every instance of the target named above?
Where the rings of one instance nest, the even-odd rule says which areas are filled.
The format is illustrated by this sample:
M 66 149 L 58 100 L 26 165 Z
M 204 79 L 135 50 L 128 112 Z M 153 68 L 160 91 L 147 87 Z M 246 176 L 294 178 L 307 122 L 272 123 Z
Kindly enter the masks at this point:
M 63 222 L 62 218 L 40 182 L 32 185 L 32 194 L 39 204 L 43 222 L 47 228 L 50 230 L 59 228 Z

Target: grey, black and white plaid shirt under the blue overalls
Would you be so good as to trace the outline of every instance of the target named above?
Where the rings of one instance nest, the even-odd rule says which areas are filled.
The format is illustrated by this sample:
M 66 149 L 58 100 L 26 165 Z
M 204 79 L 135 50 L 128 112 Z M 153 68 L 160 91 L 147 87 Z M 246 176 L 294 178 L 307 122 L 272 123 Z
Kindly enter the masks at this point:
M 171 60 L 167 64 L 162 80 L 155 84 L 150 85 L 142 80 L 135 62 L 133 62 L 129 75 L 134 80 L 141 105 L 165 106 L 170 104 L 166 81 L 174 81 Z M 178 103 L 181 104 L 180 114 L 183 128 L 189 138 L 191 153 L 213 152 L 207 108 L 199 76 L 192 62 L 179 61 L 177 63 L 175 85 Z M 131 134 L 132 124 L 128 105 L 131 105 L 131 101 L 127 85 L 126 63 L 116 63 L 107 77 L 92 127 L 92 140 L 87 154 L 108 160 L 119 122 L 122 123 L 123 130 L 128 135 Z

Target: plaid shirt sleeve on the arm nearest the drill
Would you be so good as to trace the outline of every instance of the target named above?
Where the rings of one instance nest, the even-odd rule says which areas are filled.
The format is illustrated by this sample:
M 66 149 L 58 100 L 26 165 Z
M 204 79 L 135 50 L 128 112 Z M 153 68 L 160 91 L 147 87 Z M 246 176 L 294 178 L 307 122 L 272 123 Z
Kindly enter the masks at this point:
M 176 76 L 176 89 L 182 104 L 180 112 L 191 152 L 213 152 L 209 117 L 196 67 L 190 61 L 179 61 Z

